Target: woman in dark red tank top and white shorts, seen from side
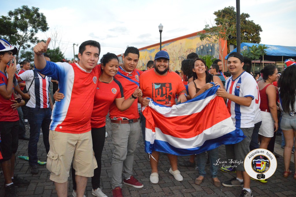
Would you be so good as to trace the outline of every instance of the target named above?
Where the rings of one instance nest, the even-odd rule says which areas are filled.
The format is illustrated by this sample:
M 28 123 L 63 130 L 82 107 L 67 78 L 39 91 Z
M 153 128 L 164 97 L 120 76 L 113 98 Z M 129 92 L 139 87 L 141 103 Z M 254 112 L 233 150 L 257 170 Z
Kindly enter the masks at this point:
M 274 136 L 274 132 L 279 127 L 276 109 L 276 101 L 279 99 L 279 96 L 272 84 L 278 77 L 278 71 L 274 65 L 268 64 L 260 73 L 263 80 L 258 82 L 262 116 L 262 124 L 259 129 L 259 147 L 267 149 L 271 137 Z

